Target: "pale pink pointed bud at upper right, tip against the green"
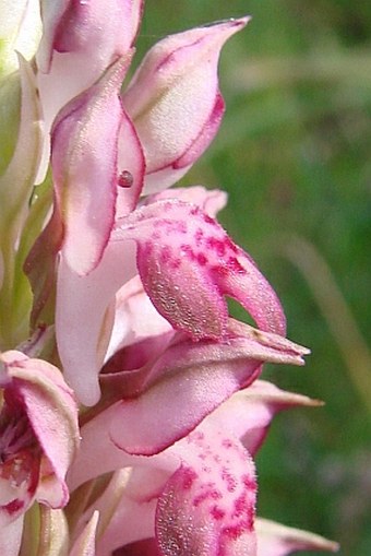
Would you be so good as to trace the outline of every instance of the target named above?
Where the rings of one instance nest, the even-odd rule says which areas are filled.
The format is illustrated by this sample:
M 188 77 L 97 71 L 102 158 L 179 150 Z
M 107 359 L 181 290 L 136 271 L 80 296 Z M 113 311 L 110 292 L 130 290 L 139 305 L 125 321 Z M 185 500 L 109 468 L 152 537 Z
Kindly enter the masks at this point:
M 230 20 L 166 37 L 134 74 L 123 103 L 144 147 L 145 193 L 173 184 L 213 140 L 224 109 L 219 52 L 248 21 Z

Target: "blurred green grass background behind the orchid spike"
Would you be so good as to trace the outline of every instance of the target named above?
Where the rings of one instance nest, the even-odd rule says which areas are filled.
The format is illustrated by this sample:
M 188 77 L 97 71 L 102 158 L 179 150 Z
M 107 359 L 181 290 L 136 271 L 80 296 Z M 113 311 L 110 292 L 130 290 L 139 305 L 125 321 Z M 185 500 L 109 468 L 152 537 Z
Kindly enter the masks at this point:
M 220 221 L 276 288 L 289 338 L 312 350 L 304 369 L 265 376 L 326 402 L 275 419 L 259 513 L 370 556 L 371 2 L 147 0 L 139 58 L 244 14 L 220 61 L 223 127 L 182 184 L 229 192 Z

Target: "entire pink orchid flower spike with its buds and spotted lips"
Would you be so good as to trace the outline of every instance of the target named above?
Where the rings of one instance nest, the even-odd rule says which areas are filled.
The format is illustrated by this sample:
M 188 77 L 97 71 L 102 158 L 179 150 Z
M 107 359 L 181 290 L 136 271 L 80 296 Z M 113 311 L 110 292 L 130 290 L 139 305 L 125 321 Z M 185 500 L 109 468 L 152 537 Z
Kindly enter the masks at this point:
M 272 418 L 321 404 L 262 367 L 309 351 L 218 224 L 226 194 L 168 189 L 219 128 L 249 17 L 159 40 L 122 91 L 142 11 L 0 1 L 0 553 L 335 551 L 255 517 Z

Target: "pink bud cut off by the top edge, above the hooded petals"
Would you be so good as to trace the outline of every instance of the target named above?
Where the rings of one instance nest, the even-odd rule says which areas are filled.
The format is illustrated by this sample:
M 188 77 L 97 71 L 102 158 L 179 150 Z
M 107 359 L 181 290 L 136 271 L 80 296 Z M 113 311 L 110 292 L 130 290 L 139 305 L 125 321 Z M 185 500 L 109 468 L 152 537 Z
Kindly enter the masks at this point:
M 50 152 L 49 130 L 59 110 L 91 87 L 118 58 L 133 54 L 143 0 L 44 0 L 44 34 L 37 52 L 38 87 L 44 119 L 44 156 L 37 182 L 43 181 Z

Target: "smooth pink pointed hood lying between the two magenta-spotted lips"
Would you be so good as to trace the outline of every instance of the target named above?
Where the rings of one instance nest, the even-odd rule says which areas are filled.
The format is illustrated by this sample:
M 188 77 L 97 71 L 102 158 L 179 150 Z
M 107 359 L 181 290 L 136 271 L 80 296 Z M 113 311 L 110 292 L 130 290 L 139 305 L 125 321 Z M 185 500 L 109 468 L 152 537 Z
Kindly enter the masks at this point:
M 240 328 L 239 336 L 230 333 L 225 342 L 185 340 L 168 347 L 148 374 L 147 381 L 155 380 L 154 383 L 118 405 L 109 427 L 115 443 L 132 454 L 158 453 L 256 378 L 264 362 L 303 364 L 301 355 L 306 350 L 300 346 L 262 332 L 259 340 L 254 329 Z M 248 417 L 246 421 L 249 423 Z M 235 434 L 229 416 L 225 428 L 227 425 Z

